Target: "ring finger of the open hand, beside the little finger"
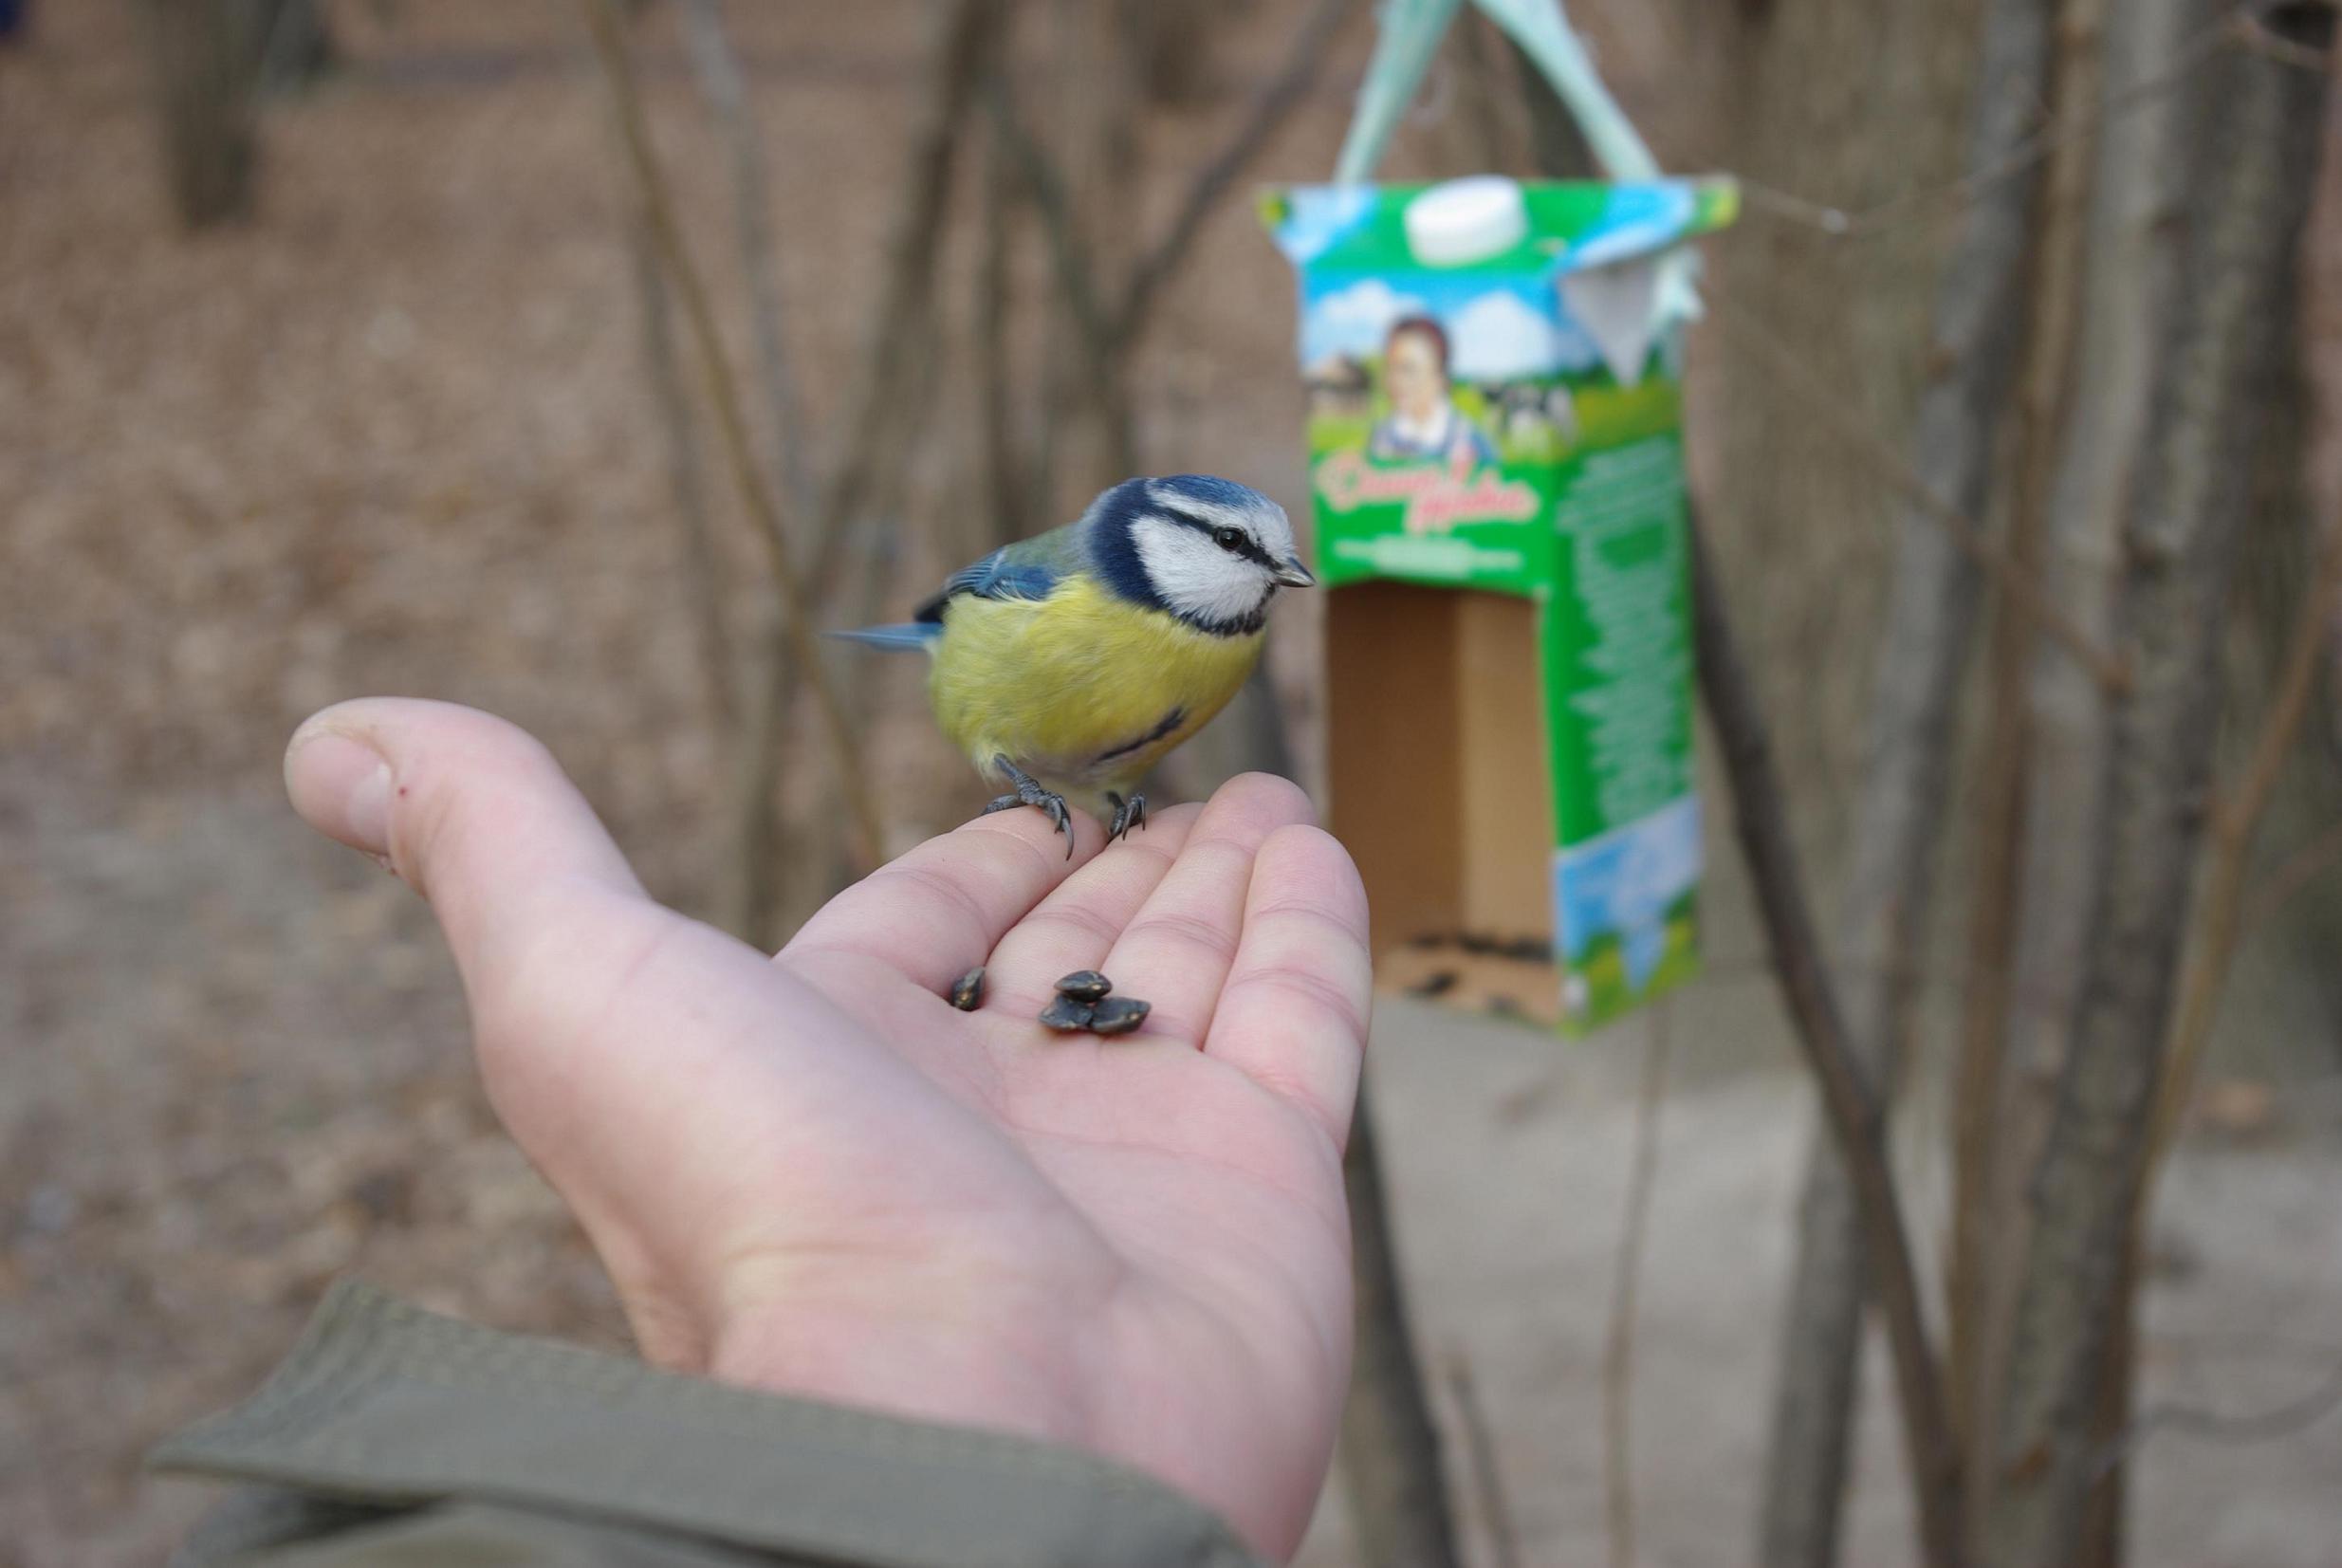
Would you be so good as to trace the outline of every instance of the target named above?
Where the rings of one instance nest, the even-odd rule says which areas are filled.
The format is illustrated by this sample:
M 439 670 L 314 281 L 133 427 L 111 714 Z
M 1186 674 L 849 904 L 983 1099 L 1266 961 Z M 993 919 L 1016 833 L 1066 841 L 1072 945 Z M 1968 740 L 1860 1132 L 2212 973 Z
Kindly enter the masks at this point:
M 1253 854 L 1281 826 L 1309 821 L 1290 779 L 1246 772 L 1204 805 L 1178 861 L 1105 955 L 1115 992 L 1152 1004 L 1145 1032 L 1201 1044 L 1244 929 Z

